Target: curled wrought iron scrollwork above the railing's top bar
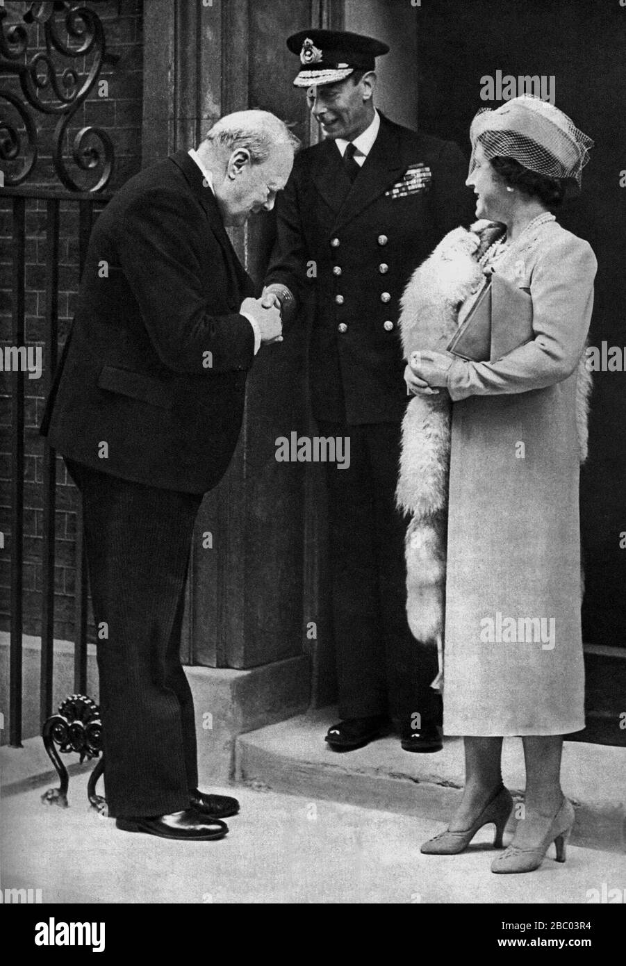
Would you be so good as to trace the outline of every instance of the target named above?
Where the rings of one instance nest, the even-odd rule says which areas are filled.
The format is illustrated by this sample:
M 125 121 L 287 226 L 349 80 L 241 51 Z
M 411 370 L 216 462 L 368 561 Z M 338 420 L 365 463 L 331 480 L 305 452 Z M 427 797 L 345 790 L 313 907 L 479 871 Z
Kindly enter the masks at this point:
M 20 99 L 12 91 L 0 89 L 0 104 L 5 108 L 2 115 L 6 115 L 7 105 L 16 114 L 13 120 L 0 116 L 0 162 L 23 157 L 16 172 L 4 172 L 4 184 L 21 185 L 35 167 L 39 145 L 34 112 L 39 111 L 59 118 L 52 136 L 52 161 L 60 182 L 70 191 L 101 191 L 113 169 L 113 142 L 107 132 L 97 126 L 80 128 L 71 145 L 77 168 L 98 176 L 91 186 L 74 180 L 63 145 L 71 119 L 98 82 L 103 65 L 115 65 L 119 56 L 106 52 L 100 16 L 85 3 L 55 0 L 24 6 L 26 10 L 17 22 L 8 21 L 8 11 L 0 7 L 0 74 L 15 75 L 23 95 Z M 61 36 L 62 23 L 67 42 Z M 45 50 L 29 57 L 38 25 L 43 27 Z M 84 69 L 80 71 L 82 58 Z M 52 97 L 48 98 L 50 93 Z

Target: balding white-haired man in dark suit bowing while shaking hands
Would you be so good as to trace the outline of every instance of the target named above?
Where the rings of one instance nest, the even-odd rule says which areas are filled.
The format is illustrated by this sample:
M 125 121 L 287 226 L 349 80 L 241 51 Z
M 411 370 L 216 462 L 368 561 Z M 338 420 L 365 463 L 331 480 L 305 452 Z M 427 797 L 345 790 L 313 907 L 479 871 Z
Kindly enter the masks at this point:
M 225 226 L 272 208 L 296 144 L 273 115 L 238 112 L 118 191 L 44 416 L 82 495 L 106 797 L 127 831 L 222 838 L 239 810 L 197 788 L 181 622 L 197 510 L 235 449 L 254 356 L 281 338 Z

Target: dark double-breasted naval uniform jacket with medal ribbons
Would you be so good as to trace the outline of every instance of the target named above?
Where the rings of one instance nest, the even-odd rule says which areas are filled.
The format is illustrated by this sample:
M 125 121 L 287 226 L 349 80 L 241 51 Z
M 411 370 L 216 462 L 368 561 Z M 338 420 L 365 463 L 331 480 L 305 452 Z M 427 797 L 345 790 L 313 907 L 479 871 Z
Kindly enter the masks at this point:
M 386 195 L 410 165 L 423 187 Z M 349 423 L 393 422 L 407 405 L 397 323 L 413 270 L 452 228 L 469 224 L 472 195 L 459 148 L 393 124 L 381 128 L 351 185 L 327 140 L 296 156 L 278 196 L 267 281 L 313 306 L 313 413 Z M 390 324 L 390 325 L 389 325 Z M 339 327 L 342 327 L 341 330 Z M 343 328 L 345 327 L 345 329 Z

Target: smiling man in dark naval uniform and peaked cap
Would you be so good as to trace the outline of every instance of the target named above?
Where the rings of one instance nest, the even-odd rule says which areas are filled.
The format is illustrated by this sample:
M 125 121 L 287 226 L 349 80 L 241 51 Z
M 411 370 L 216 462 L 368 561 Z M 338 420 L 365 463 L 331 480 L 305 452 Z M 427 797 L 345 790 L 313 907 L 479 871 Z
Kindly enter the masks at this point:
M 442 236 L 472 215 L 459 148 L 393 124 L 374 106 L 384 43 L 305 30 L 294 81 L 325 140 L 299 154 L 277 205 L 267 291 L 289 321 L 313 316 L 310 386 L 325 436 L 350 439 L 351 465 L 327 469 L 333 618 L 342 721 L 328 744 L 349 751 L 388 716 L 411 752 L 441 749 L 437 654 L 406 619 L 405 523 L 395 507 L 407 405 L 400 298 Z

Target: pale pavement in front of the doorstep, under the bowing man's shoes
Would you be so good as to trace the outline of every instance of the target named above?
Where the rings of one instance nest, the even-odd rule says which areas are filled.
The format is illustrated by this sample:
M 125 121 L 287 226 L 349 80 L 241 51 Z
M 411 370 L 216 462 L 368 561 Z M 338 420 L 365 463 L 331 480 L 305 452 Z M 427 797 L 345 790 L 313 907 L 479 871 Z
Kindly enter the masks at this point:
M 2 800 L 2 889 L 54 903 L 585 903 L 604 883 L 626 900 L 614 852 L 570 847 L 564 865 L 496 876 L 491 829 L 463 855 L 422 856 L 441 822 L 245 787 L 213 789 L 242 803 L 227 838 L 178 843 L 120 832 L 89 808 L 86 785 L 71 778 L 66 810 L 42 804 L 45 786 Z

